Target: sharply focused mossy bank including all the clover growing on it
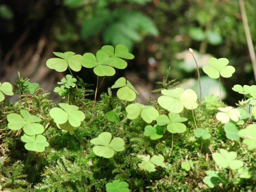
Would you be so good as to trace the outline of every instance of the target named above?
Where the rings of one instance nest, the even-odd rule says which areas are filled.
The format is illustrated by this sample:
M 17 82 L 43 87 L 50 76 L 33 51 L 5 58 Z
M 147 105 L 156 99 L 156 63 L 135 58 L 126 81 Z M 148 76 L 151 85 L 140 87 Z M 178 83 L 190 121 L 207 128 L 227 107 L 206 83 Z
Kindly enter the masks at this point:
M 134 58 L 124 45 L 103 46 L 95 55 L 53 54 L 46 66 L 69 73 L 53 90 L 60 103 L 20 75 L 14 89 L 8 82 L 0 84 L 2 190 L 255 190 L 255 85 L 234 85 L 241 101 L 227 106 L 221 87 L 219 97 L 205 99 L 200 88 L 198 99 L 193 89 L 168 80 L 169 68 L 152 91 L 161 92 L 156 100 L 139 103 L 139 92 L 124 77 L 99 99 L 102 82 Z M 203 71 L 219 83 L 235 72 L 226 58 L 212 57 L 208 64 Z M 94 90 L 72 74 L 84 67 L 93 68 L 87 70 L 97 78 Z M 197 75 L 201 86 L 198 68 Z M 20 99 L 10 103 L 5 95 L 14 93 Z M 87 98 L 90 94 L 94 100 Z

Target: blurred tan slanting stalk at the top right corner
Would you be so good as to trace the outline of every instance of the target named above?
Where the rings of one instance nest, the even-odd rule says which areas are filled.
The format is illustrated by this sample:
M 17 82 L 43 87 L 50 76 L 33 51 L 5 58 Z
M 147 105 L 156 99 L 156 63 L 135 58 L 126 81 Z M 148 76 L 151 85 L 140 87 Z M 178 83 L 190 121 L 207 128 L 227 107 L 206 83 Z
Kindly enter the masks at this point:
M 244 0 L 239 0 L 239 5 L 240 5 L 240 10 L 241 10 L 242 22 L 243 22 L 243 25 L 244 25 L 245 37 L 246 37 L 246 41 L 247 41 L 247 45 L 248 45 L 248 49 L 249 49 L 249 54 L 250 54 L 251 61 L 252 61 L 252 68 L 253 68 L 254 78 L 256 80 L 256 56 L 255 56 L 255 51 L 254 51 L 254 48 L 253 48 L 250 28 L 249 28 L 248 20 L 247 20 L 247 16 L 246 16 Z

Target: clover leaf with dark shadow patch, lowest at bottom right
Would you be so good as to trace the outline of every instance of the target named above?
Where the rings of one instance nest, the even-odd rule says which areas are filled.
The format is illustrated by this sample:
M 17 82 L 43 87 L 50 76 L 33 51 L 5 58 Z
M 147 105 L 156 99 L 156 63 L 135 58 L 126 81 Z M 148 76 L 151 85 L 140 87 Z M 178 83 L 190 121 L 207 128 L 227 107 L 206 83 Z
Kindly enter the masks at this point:
M 218 171 L 207 171 L 206 174 L 208 176 L 204 177 L 203 182 L 208 185 L 210 188 L 214 188 L 218 183 L 222 183 L 224 185 L 227 184 L 227 180 L 218 172 Z

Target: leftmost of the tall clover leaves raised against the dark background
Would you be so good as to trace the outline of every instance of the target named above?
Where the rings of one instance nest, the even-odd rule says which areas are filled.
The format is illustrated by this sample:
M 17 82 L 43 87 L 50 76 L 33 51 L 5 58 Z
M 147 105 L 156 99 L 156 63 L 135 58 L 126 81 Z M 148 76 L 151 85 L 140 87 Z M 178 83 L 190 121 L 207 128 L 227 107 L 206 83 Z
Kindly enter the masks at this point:
M 46 61 L 46 66 L 50 69 L 55 69 L 58 72 L 66 71 L 68 66 L 73 71 L 80 71 L 82 68 L 81 62 L 82 62 L 82 55 L 76 54 L 74 52 L 65 52 L 65 53 L 58 53 L 53 52 L 60 58 L 51 58 Z

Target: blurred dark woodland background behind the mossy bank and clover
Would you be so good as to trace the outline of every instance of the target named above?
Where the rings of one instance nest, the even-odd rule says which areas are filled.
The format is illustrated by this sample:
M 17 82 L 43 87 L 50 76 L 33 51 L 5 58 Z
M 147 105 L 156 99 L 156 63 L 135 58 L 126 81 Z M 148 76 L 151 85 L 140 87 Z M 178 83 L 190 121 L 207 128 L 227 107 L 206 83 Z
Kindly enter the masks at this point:
M 245 0 L 245 8 L 256 44 L 256 1 Z M 1 0 L 0 34 L 1 82 L 14 83 L 20 71 L 51 92 L 64 75 L 45 66 L 53 51 L 96 53 L 117 44 L 127 46 L 135 59 L 106 78 L 100 91 L 125 76 L 145 103 L 169 67 L 171 79 L 199 91 L 188 48 L 200 67 L 203 97 L 219 94 L 218 80 L 202 71 L 209 57 L 225 57 L 236 68 L 231 78 L 222 78 L 228 104 L 242 99 L 231 90 L 234 84 L 255 84 L 238 0 Z M 95 84 L 91 69 L 76 75 Z

